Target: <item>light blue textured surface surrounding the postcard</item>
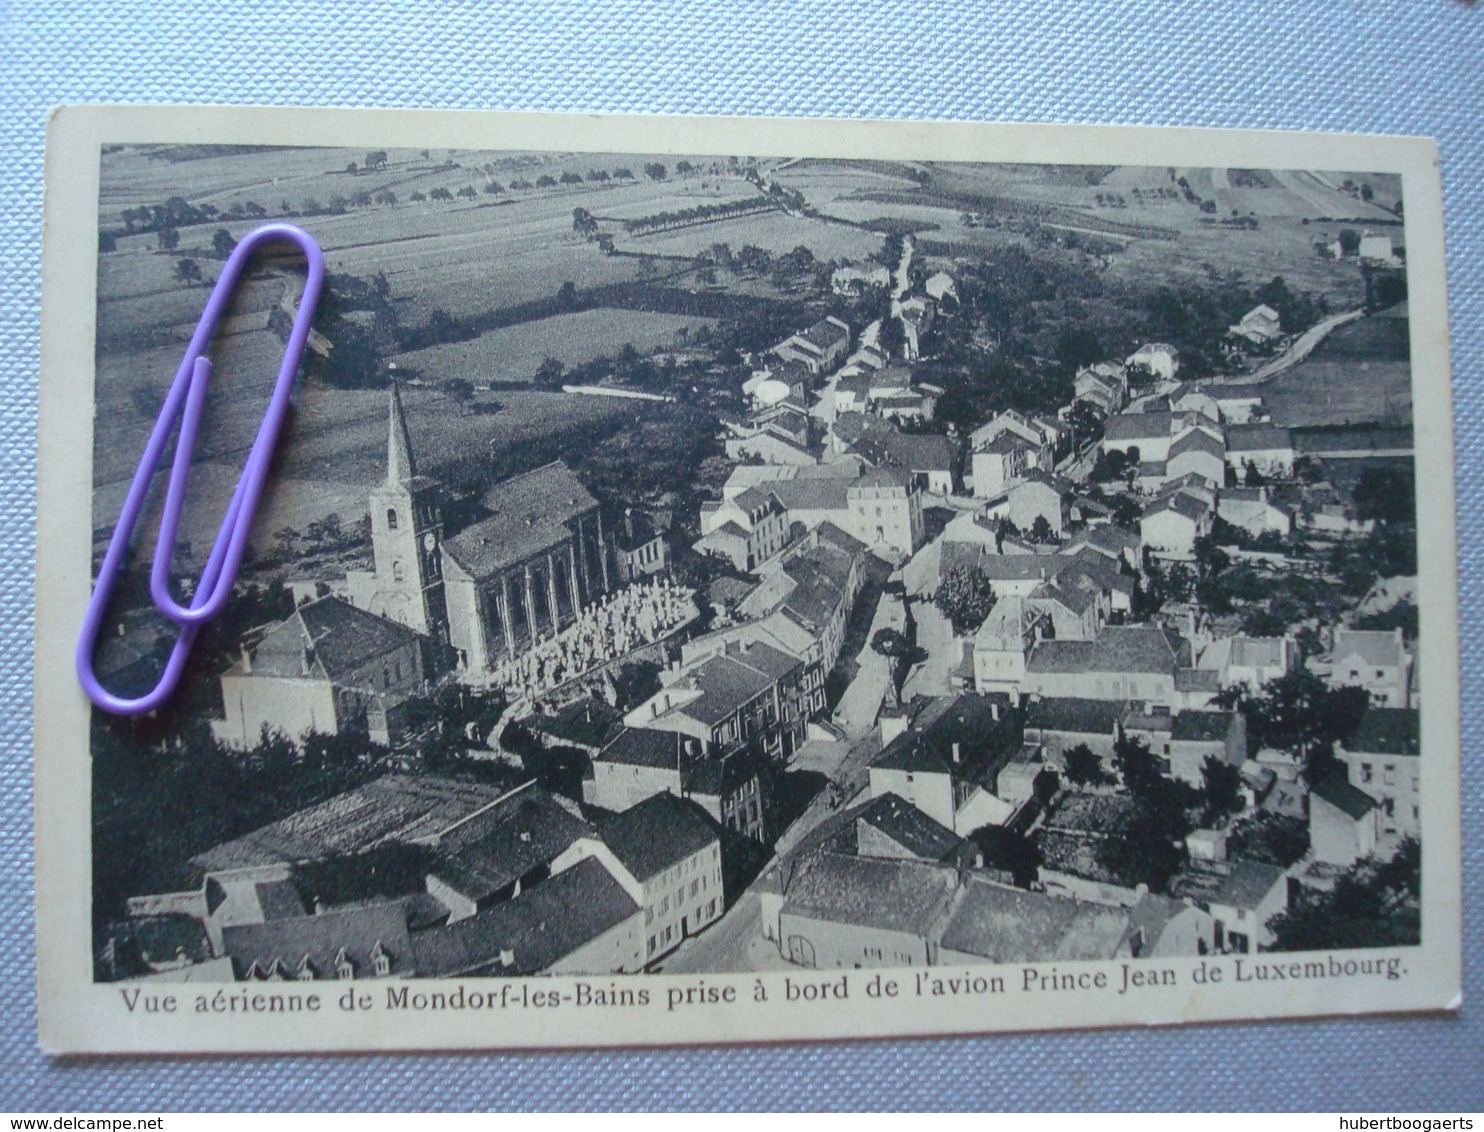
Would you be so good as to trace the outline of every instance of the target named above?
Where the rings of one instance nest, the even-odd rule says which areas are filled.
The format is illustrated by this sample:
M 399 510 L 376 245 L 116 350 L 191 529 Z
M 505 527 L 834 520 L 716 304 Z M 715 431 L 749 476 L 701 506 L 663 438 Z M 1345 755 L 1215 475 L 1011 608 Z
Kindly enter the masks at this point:
M 55 1062 L 36 1044 L 31 604 L 42 148 L 61 102 L 1270 126 L 1442 150 L 1459 448 L 1465 994 L 1484 835 L 1484 6 L 0 0 L 0 1110 L 1484 1108 L 1457 1018 L 527 1056 Z

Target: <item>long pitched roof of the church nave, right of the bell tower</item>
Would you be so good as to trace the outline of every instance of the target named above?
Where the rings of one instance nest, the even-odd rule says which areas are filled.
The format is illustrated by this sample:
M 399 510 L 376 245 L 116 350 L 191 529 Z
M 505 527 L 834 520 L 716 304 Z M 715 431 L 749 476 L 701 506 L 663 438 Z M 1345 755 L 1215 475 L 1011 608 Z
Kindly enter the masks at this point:
M 490 516 L 470 524 L 444 549 L 475 580 L 561 546 L 573 536 L 571 522 L 598 501 L 561 460 L 537 467 L 485 493 Z

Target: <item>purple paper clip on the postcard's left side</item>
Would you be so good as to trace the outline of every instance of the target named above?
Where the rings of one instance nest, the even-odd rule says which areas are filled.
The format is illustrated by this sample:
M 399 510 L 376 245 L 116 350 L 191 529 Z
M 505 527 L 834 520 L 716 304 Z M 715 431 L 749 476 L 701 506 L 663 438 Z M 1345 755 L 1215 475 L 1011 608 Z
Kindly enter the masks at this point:
M 190 605 L 181 605 L 169 592 L 169 564 L 175 549 L 175 537 L 180 530 L 181 509 L 186 503 L 186 485 L 190 478 L 190 461 L 196 447 L 196 430 L 200 424 L 200 411 L 206 399 L 206 383 L 211 380 L 211 361 L 205 356 L 211 337 L 221 320 L 221 315 L 236 289 L 237 279 L 252 254 L 264 243 L 289 240 L 304 251 L 309 261 L 309 274 L 304 280 L 304 294 L 294 316 L 294 328 L 289 331 L 288 344 L 283 347 L 283 362 L 279 365 L 278 380 L 273 384 L 273 396 L 269 401 L 263 424 L 252 441 L 252 451 L 237 479 L 237 488 L 232 496 L 232 503 L 221 519 L 217 531 L 217 542 L 211 547 L 206 565 L 200 571 L 196 590 L 191 593 Z M 125 497 L 123 509 L 119 512 L 119 524 L 113 530 L 108 542 L 108 552 L 102 558 L 98 570 L 98 582 L 93 586 L 92 599 L 88 602 L 88 613 L 83 617 L 83 629 L 77 639 L 77 678 L 83 691 L 95 705 L 114 715 L 144 715 L 159 708 L 175 691 L 186 660 L 190 656 L 191 644 L 203 622 L 218 616 L 232 595 L 232 586 L 237 579 L 242 565 L 242 555 L 246 552 L 248 534 L 252 530 L 252 519 L 258 509 L 258 497 L 263 494 L 263 484 L 267 479 L 269 464 L 273 460 L 273 448 L 278 444 L 283 417 L 288 412 L 289 396 L 294 392 L 294 375 L 298 372 L 300 359 L 304 355 L 304 344 L 309 341 L 309 328 L 315 319 L 315 307 L 319 303 L 319 289 L 325 279 L 325 255 L 319 245 L 303 228 L 292 224 L 264 224 L 254 228 L 232 252 L 221 277 L 211 291 L 206 309 L 202 312 L 196 332 L 186 347 L 181 366 L 175 371 L 169 393 L 150 439 L 144 445 L 144 455 L 139 467 L 134 473 L 129 494 Z M 159 682 L 138 699 L 123 699 L 114 696 L 98 682 L 93 672 L 93 650 L 98 644 L 98 631 L 102 626 L 104 613 L 108 608 L 108 598 L 119 580 L 119 565 L 123 562 L 134 536 L 134 527 L 144 510 L 145 498 L 150 494 L 150 481 L 154 479 L 160 466 L 160 455 L 169 442 L 177 421 L 180 436 L 175 442 L 175 458 L 171 464 L 169 479 L 165 490 L 165 510 L 160 518 L 160 534 L 154 543 L 154 562 L 150 568 L 150 593 L 154 604 L 171 620 L 181 626 L 165 663 L 165 672 Z

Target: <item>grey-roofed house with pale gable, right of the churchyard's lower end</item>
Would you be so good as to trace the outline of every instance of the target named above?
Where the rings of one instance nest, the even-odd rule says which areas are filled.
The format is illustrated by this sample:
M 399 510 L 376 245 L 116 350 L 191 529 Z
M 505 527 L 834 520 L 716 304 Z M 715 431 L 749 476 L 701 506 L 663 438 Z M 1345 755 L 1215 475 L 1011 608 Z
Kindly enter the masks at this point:
M 662 675 L 665 687 L 623 717 L 628 727 L 678 731 L 705 749 L 739 748 L 787 760 L 824 708 L 824 672 L 769 644 L 726 651 Z

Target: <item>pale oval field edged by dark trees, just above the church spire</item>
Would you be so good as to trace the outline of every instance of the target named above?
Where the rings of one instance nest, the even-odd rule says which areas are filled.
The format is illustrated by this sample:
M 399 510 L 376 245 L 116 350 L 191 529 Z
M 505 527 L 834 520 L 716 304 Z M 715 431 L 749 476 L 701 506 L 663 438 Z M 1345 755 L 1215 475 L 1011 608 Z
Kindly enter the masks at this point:
M 571 368 L 595 358 L 611 358 L 625 344 L 632 344 L 640 353 L 672 349 L 683 341 L 683 332 L 709 322 L 711 319 L 659 312 L 600 307 L 505 326 L 470 341 L 429 346 L 398 355 L 392 361 L 399 368 L 416 369 L 427 381 L 451 377 L 462 377 L 475 386 L 528 381 L 546 358 L 556 358 Z

